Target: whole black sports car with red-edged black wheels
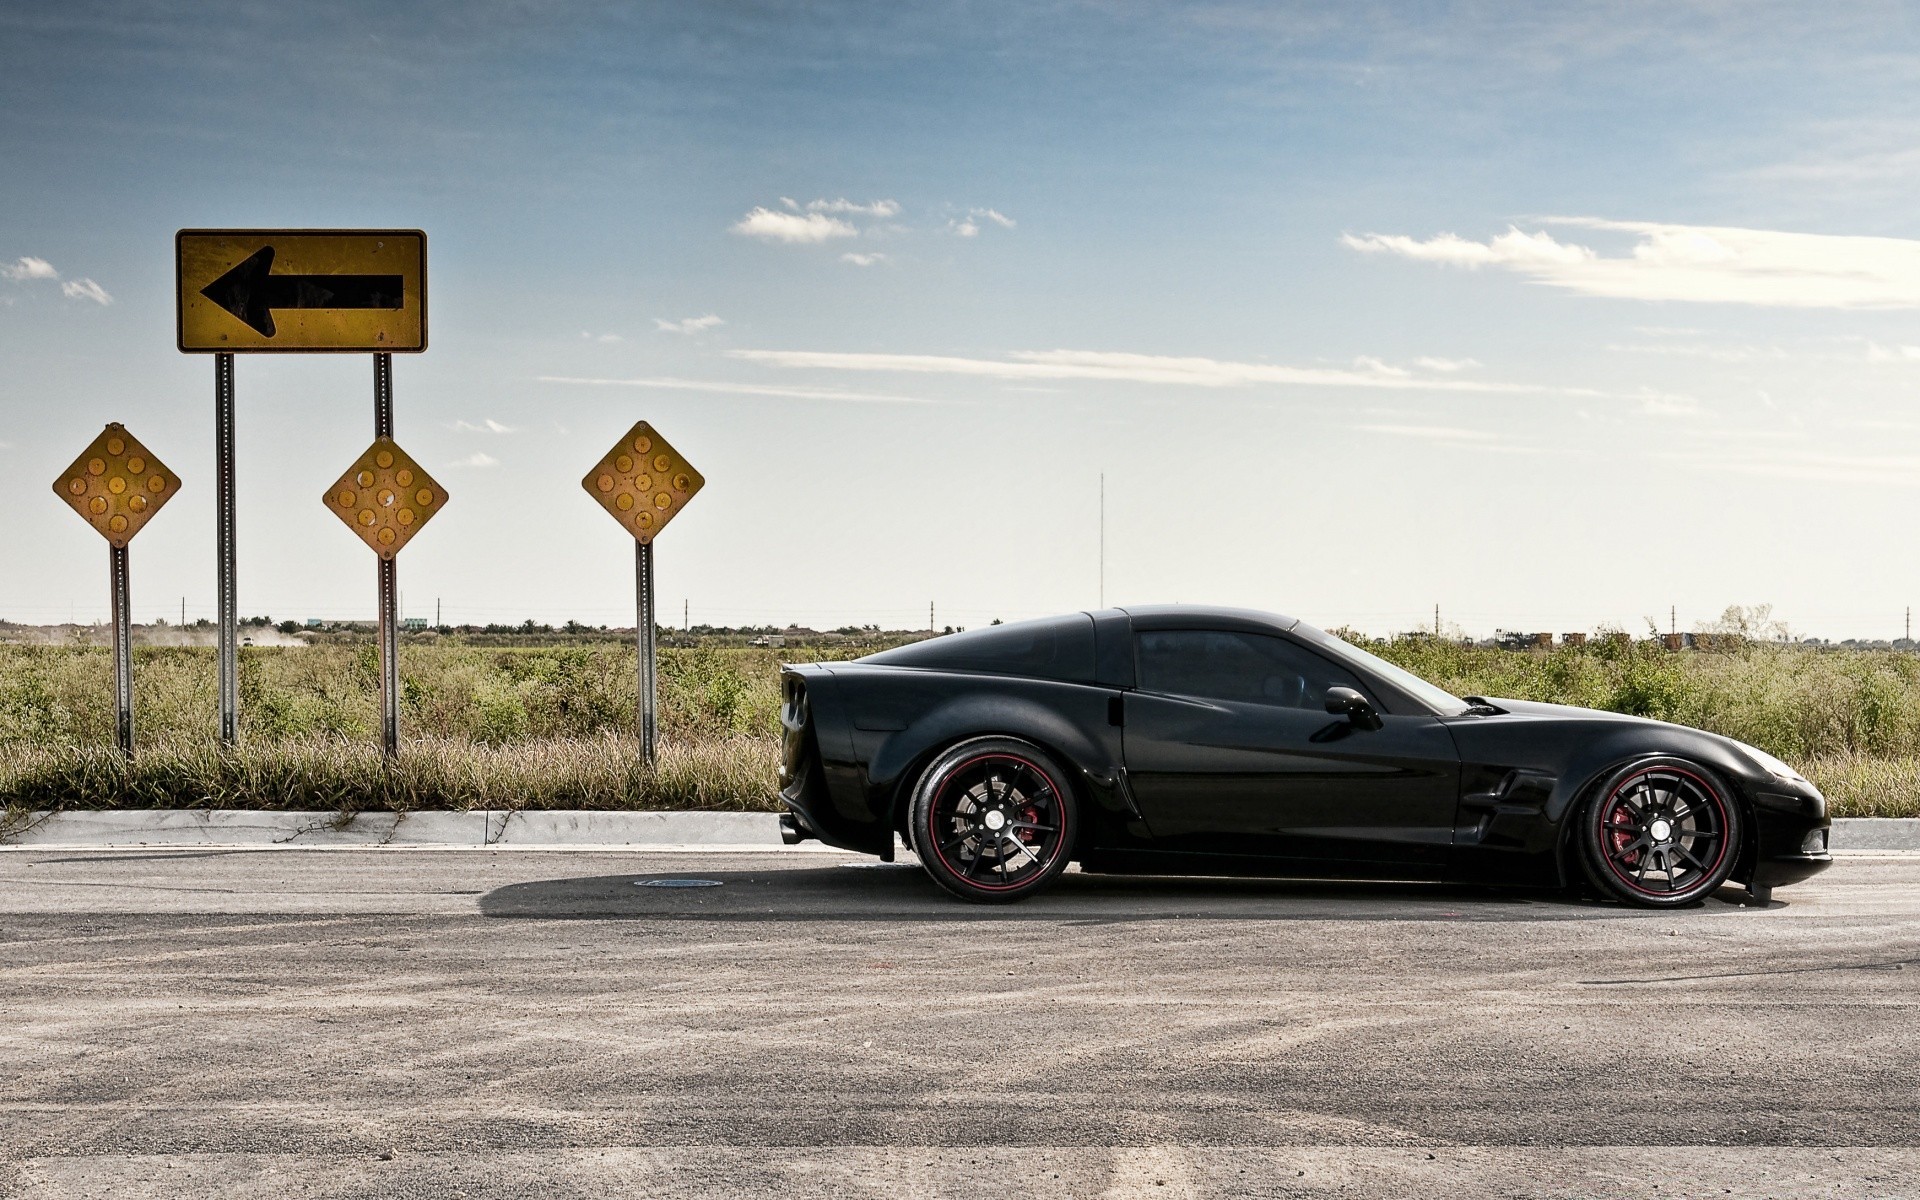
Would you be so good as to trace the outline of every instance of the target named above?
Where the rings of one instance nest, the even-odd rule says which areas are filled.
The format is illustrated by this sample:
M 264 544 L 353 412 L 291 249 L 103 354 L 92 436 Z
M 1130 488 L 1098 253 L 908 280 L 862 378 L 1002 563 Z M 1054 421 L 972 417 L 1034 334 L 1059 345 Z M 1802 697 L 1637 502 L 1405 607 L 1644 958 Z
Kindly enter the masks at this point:
M 966 900 L 1089 872 L 1574 887 L 1655 908 L 1826 868 L 1764 751 L 1432 684 L 1288 616 L 1075 612 L 783 668 L 781 829 Z

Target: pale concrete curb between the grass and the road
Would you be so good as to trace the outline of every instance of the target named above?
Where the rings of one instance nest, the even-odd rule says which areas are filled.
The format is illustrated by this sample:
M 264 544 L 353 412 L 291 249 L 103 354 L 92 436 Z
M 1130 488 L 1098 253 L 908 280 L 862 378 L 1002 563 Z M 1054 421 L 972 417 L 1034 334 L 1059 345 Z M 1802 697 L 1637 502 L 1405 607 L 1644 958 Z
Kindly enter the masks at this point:
M 1920 818 L 1843 816 L 1836 851 L 1920 851 Z M 253 812 L 246 808 L 115 808 L 35 812 L 0 833 L 0 849 L 98 847 L 405 847 L 405 849 L 582 849 L 693 847 L 778 851 L 772 812 Z M 824 849 L 801 843 L 793 849 Z

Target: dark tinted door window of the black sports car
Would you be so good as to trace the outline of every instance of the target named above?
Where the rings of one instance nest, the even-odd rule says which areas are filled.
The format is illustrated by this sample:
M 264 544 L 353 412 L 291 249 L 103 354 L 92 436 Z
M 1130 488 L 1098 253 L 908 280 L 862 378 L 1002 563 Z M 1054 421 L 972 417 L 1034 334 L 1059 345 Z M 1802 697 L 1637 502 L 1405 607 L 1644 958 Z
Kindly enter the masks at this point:
M 1342 666 L 1263 634 L 1227 630 L 1140 632 L 1140 687 L 1210 701 L 1273 705 L 1279 708 L 1327 707 L 1329 687 L 1367 689 Z

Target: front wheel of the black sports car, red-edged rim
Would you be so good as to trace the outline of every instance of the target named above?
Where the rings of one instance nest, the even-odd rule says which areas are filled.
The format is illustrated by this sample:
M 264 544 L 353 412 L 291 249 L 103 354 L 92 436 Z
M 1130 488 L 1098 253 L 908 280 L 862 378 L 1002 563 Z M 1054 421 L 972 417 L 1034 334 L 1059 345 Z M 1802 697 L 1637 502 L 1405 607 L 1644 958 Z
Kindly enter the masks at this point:
M 1628 904 L 1676 908 L 1713 895 L 1740 856 L 1740 804 L 1711 770 L 1647 758 L 1615 772 L 1580 814 L 1580 860 Z

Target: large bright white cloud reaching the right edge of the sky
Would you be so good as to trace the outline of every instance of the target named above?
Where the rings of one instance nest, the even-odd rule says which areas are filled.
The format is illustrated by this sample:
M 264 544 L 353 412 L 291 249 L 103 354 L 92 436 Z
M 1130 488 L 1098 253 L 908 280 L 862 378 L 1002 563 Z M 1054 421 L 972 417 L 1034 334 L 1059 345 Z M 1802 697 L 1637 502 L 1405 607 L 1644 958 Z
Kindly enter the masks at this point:
M 1797 234 L 1716 225 L 1548 217 L 1542 225 L 1626 232 L 1624 255 L 1601 255 L 1548 232 L 1507 232 L 1488 242 L 1457 234 L 1428 240 L 1344 234 L 1363 253 L 1392 253 L 1453 267 L 1501 267 L 1536 282 L 1615 300 L 1676 300 L 1807 309 L 1920 307 L 1920 240 Z

